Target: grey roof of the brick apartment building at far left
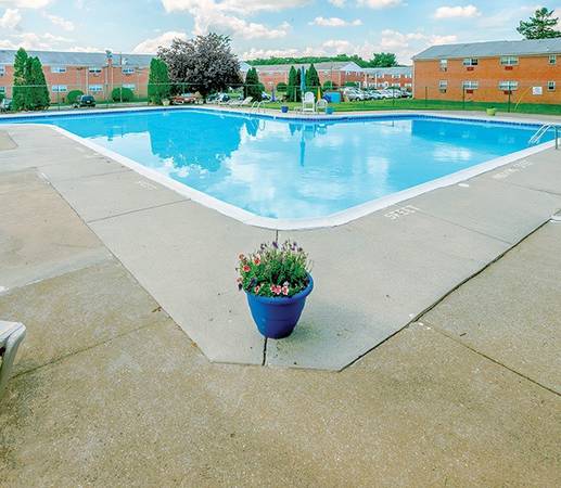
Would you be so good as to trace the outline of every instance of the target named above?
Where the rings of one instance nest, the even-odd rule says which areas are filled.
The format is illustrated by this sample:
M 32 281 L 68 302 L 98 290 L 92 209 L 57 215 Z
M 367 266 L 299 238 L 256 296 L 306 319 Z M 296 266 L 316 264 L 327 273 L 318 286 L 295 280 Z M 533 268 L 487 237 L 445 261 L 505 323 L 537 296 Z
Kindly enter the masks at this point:
M 14 50 L 0 50 L 0 64 L 13 64 L 15 53 Z M 39 57 L 44 66 L 102 66 L 107 62 L 107 54 L 104 52 L 27 51 L 27 54 Z M 113 63 L 149 66 L 153 57 L 152 54 L 113 53 Z

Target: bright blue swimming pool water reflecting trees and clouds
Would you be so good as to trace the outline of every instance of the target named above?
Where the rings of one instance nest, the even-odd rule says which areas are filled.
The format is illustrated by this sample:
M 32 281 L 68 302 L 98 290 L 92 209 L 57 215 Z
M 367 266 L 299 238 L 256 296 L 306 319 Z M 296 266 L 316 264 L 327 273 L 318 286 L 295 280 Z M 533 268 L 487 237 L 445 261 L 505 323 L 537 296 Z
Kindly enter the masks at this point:
M 33 121 L 271 218 L 342 211 L 525 149 L 536 130 L 424 116 L 324 123 L 192 110 Z

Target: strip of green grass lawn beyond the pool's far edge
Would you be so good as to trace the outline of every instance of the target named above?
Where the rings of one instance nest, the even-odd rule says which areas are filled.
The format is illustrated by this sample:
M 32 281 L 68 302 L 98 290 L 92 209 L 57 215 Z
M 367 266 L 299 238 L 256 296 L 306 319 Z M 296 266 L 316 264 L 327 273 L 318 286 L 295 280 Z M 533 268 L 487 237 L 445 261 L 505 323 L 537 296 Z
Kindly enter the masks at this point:
M 263 106 L 267 108 L 280 108 L 281 103 L 266 103 Z M 299 107 L 299 103 L 285 103 L 289 107 Z M 485 111 L 495 107 L 499 112 L 509 112 L 508 103 L 483 103 L 483 102 L 448 102 L 441 100 L 413 100 L 413 99 L 396 99 L 396 100 L 372 100 L 365 102 L 342 102 L 333 105 L 335 112 L 356 112 L 356 111 L 391 111 L 391 110 L 420 110 L 420 111 Z M 510 112 L 520 114 L 544 114 L 544 115 L 561 115 L 561 105 L 521 103 L 510 105 Z

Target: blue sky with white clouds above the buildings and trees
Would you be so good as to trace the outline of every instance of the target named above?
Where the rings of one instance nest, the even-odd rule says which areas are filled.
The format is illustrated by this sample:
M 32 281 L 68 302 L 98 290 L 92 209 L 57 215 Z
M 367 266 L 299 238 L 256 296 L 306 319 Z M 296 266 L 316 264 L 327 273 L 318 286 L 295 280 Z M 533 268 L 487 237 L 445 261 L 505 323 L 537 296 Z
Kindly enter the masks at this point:
M 520 39 L 539 4 L 515 0 L 0 0 L 0 49 L 154 53 L 216 31 L 241 59 L 394 52 Z M 561 13 L 561 8 L 554 8 Z

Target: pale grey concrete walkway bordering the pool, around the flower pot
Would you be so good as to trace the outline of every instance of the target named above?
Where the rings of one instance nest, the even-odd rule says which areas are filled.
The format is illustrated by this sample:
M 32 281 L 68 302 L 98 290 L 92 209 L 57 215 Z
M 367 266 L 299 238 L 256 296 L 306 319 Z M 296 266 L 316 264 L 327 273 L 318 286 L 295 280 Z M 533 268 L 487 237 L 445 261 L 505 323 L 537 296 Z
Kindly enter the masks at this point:
M 560 153 L 548 150 L 345 226 L 279 232 L 189 201 L 49 127 L 2 131 L 17 147 L 2 152 L 0 170 L 38 172 L 218 362 L 341 370 L 561 208 Z M 266 342 L 235 290 L 235 256 L 286 237 L 309 251 L 316 290 L 295 334 Z M 98 252 L 77 259 L 94 262 Z M 0 286 L 25 284 L 27 270 L 5 269 Z

